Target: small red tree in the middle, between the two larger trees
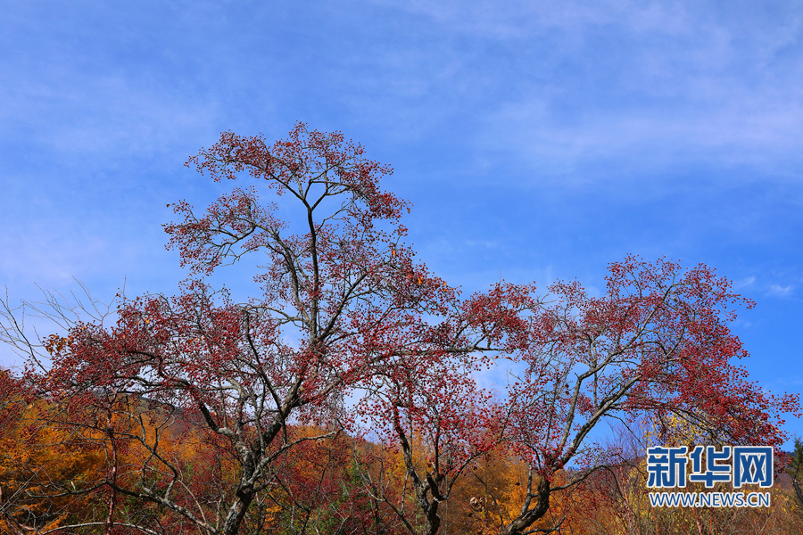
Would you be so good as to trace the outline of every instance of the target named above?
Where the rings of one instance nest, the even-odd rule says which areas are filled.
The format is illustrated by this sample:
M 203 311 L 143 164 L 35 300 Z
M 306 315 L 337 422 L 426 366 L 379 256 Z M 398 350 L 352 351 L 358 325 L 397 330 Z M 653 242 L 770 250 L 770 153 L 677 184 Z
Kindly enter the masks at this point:
M 380 498 L 410 535 L 439 531 L 441 505 L 455 483 L 497 442 L 487 394 L 465 370 L 447 364 L 400 370 L 389 388 L 368 398 L 365 410 L 388 447 L 398 451 L 402 490 L 385 489 Z

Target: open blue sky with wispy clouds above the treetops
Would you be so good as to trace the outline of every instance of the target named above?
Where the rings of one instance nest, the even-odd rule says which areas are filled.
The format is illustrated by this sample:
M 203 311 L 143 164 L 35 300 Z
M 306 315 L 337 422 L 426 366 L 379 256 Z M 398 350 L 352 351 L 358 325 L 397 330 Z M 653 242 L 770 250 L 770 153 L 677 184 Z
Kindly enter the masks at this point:
M 393 165 L 451 284 L 703 262 L 757 301 L 751 376 L 803 391 L 801 38 L 793 1 L 7 1 L 0 285 L 175 292 L 166 204 L 223 191 L 186 158 L 302 120 Z

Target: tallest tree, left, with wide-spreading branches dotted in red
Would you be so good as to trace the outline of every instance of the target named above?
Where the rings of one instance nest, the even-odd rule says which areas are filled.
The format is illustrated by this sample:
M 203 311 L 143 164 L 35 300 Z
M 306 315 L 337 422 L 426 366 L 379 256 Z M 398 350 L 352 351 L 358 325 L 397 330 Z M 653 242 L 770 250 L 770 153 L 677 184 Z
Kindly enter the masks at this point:
M 66 410 L 105 419 L 110 519 L 128 497 L 195 530 L 233 534 L 286 452 L 348 424 L 354 389 L 418 355 L 445 355 L 430 350 L 440 342 L 424 318 L 443 315 L 456 292 L 402 243 L 409 204 L 378 186 L 391 169 L 339 133 L 298 124 L 272 146 L 225 133 L 191 162 L 216 181 L 247 173 L 299 209 L 280 218 L 256 187 L 235 188 L 200 216 L 178 202 L 182 220 L 165 226 L 195 276 L 261 253 L 261 295 L 236 304 L 190 280 L 174 298 L 121 299 L 112 326 L 75 322 L 47 343 L 53 364 L 37 383 Z M 137 426 L 139 403 L 169 415 L 156 432 Z M 162 435 L 178 421 L 233 465 L 225 503 L 196 497 L 185 468 L 164 454 Z M 325 432 L 294 438 L 294 422 Z M 135 447 L 148 455 L 120 465 L 117 453 Z

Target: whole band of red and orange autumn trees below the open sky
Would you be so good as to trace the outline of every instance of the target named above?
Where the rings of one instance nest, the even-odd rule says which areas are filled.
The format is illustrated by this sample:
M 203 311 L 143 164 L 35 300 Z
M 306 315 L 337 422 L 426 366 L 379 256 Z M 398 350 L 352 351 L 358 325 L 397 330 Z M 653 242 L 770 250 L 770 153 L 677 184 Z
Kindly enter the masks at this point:
M 404 242 L 391 169 L 340 133 L 228 132 L 188 165 L 249 184 L 174 205 L 178 295 L 120 296 L 41 340 L 4 302 L 0 334 L 29 360 L 0 374 L 0 530 L 722 532 L 646 509 L 643 451 L 600 429 L 778 448 L 799 410 L 736 364 L 728 325 L 752 303 L 710 268 L 628 256 L 599 294 L 463 296 Z M 247 302 L 211 285 L 239 261 Z M 490 368 L 509 377 L 495 391 L 476 383 Z

